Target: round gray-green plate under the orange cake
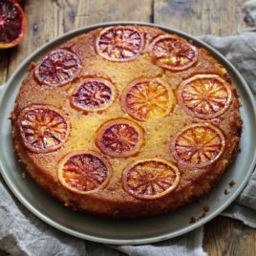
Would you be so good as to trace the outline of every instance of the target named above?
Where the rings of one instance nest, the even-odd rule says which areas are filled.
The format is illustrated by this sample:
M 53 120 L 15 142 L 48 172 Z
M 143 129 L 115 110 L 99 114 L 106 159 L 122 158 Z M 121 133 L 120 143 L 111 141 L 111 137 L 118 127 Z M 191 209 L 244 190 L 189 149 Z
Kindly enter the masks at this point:
M 45 53 L 77 34 L 89 32 L 98 27 L 127 24 L 157 26 L 139 22 L 115 22 L 96 24 L 76 30 L 75 32 L 68 32 L 53 40 L 53 42 L 39 48 L 17 68 L 5 85 L 0 102 L 0 167 L 4 180 L 16 198 L 38 218 L 47 224 L 53 225 L 55 228 L 79 238 L 116 245 L 137 245 L 159 242 L 177 237 L 209 222 L 239 195 L 246 181 L 248 181 L 256 161 L 255 105 L 253 96 L 244 78 L 221 53 L 218 53 L 201 40 L 183 32 L 157 26 L 166 32 L 174 32 L 184 38 L 192 39 L 195 45 L 203 47 L 212 53 L 228 71 L 243 103 L 241 113 L 244 120 L 244 130 L 240 145 L 242 152 L 238 154 L 217 186 L 203 197 L 204 203 L 210 206 L 210 211 L 206 217 L 195 224 L 189 224 L 191 216 L 198 216 L 202 210 L 199 205 L 191 203 L 179 210 L 155 218 L 139 221 L 107 220 L 73 212 L 54 201 L 44 191 L 39 189 L 31 179 L 21 179 L 21 173 L 24 170 L 12 150 L 11 122 L 9 116 L 21 82 L 25 75 L 27 75 L 27 69 L 30 63 L 32 61 L 38 61 Z M 228 195 L 224 195 L 224 189 L 228 187 L 228 181 L 230 180 L 235 180 L 236 185 L 230 189 Z

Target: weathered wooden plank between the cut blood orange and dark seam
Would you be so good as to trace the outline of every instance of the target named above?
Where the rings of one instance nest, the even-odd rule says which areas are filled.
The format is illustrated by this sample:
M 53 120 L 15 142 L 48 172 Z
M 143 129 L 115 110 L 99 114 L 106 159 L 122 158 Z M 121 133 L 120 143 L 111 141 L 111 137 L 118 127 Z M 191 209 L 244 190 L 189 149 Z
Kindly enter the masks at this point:
M 151 0 L 27 0 L 28 32 L 22 44 L 11 53 L 9 75 L 39 46 L 89 24 L 114 20 L 149 21 Z

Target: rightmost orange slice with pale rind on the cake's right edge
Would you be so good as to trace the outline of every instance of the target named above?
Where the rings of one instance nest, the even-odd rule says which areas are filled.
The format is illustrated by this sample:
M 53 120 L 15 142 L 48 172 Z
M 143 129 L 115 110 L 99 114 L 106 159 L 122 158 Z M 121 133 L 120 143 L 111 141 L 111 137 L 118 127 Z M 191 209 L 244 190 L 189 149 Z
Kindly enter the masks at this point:
M 181 83 L 178 94 L 188 114 L 204 119 L 224 114 L 232 96 L 229 85 L 219 75 L 194 75 Z

